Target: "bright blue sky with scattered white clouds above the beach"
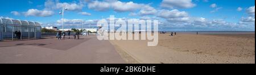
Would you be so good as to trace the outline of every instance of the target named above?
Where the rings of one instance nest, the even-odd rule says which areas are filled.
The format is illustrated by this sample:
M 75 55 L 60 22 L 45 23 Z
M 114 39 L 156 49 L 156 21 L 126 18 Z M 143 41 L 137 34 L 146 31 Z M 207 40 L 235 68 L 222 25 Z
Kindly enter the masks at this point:
M 160 31 L 255 31 L 255 0 L 1 0 L 0 17 L 32 20 L 45 26 L 61 26 L 59 11 L 65 11 L 65 28 L 86 26 L 115 18 L 159 19 Z

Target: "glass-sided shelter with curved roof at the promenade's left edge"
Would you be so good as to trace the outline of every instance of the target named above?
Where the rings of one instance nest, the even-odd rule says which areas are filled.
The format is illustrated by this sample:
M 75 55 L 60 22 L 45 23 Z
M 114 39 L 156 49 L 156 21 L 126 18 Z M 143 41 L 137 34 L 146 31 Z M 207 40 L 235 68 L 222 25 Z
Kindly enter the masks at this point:
M 40 23 L 0 18 L 0 41 L 39 38 L 41 38 Z

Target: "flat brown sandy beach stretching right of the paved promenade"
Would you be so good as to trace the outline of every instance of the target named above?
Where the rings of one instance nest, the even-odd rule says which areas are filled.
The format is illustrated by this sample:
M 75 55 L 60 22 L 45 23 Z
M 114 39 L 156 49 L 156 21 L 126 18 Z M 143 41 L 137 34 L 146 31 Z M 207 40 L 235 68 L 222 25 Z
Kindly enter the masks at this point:
M 110 40 L 128 63 L 145 64 L 255 64 L 255 33 L 159 34 L 159 43 L 147 40 Z

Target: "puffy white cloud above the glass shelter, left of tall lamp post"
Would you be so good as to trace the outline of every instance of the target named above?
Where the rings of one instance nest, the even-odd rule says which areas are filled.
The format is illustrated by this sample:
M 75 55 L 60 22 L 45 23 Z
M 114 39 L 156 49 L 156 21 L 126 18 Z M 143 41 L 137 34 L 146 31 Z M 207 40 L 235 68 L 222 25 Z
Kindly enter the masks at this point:
M 52 16 L 54 14 L 53 11 L 37 10 L 37 9 L 30 9 L 27 12 L 23 12 L 23 13 L 25 16 L 41 16 L 41 17 Z

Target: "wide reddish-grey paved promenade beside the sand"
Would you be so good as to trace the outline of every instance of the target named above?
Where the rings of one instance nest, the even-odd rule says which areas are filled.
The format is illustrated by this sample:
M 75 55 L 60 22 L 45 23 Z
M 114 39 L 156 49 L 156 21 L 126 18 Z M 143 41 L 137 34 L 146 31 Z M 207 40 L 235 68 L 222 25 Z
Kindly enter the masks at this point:
M 108 40 L 96 36 L 80 40 L 40 39 L 0 41 L 0 63 L 123 64 Z

